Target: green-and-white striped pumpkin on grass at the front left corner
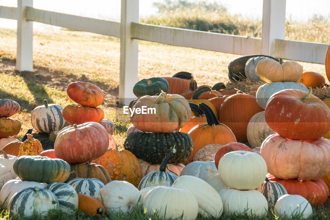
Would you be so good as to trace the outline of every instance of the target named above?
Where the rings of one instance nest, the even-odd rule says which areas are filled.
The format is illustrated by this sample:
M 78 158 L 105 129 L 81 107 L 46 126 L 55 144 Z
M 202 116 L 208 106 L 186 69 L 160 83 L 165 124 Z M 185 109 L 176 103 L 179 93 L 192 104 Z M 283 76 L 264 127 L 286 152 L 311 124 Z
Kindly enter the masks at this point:
M 51 209 L 58 209 L 58 200 L 55 194 L 38 187 L 22 189 L 9 201 L 9 213 L 22 218 L 44 217 Z

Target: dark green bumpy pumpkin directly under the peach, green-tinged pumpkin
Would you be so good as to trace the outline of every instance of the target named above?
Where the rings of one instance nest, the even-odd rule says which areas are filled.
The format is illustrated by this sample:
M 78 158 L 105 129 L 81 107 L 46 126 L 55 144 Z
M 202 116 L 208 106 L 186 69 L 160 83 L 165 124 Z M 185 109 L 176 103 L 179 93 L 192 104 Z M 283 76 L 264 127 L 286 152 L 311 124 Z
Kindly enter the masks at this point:
M 167 156 L 169 149 L 175 145 L 177 152 L 170 161 L 181 164 L 189 158 L 193 144 L 190 135 L 183 132 L 148 133 L 136 131 L 128 135 L 123 145 L 125 150 L 129 150 L 137 158 L 151 164 L 160 164 Z

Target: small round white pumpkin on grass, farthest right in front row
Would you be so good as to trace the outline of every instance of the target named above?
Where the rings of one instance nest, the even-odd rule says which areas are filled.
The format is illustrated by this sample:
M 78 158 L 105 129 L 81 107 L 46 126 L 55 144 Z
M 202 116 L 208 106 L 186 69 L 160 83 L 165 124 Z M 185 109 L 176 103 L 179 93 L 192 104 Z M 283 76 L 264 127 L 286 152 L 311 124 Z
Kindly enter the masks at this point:
M 300 195 L 283 195 L 274 206 L 277 216 L 285 216 L 286 219 L 305 219 L 313 214 L 311 204 Z

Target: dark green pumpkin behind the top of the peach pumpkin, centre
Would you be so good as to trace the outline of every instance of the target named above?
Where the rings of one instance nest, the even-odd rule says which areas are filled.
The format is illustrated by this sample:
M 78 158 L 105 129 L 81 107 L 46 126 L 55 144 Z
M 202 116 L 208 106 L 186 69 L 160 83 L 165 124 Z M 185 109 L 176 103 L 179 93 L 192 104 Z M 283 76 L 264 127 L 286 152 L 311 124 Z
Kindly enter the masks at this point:
M 138 98 L 145 95 L 159 95 L 161 91 L 168 92 L 168 82 L 162 77 L 143 79 L 133 87 L 133 93 Z

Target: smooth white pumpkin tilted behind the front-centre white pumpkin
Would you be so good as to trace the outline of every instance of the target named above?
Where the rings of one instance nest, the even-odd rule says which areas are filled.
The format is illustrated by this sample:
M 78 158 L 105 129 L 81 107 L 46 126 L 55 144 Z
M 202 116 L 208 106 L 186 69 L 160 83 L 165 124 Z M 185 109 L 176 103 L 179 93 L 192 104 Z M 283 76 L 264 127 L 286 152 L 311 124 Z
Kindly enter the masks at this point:
M 189 190 L 197 199 L 198 212 L 205 217 L 219 218 L 222 214 L 222 200 L 219 193 L 205 180 L 195 176 L 180 176 L 172 185 Z

